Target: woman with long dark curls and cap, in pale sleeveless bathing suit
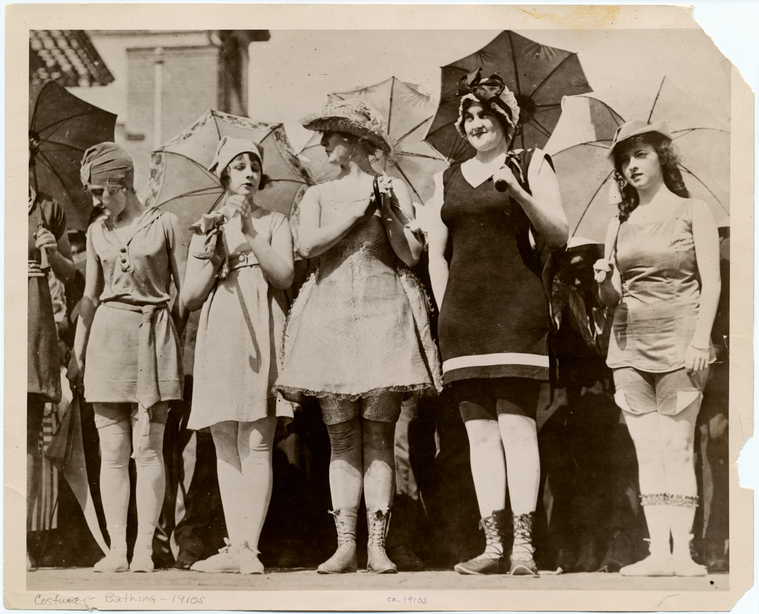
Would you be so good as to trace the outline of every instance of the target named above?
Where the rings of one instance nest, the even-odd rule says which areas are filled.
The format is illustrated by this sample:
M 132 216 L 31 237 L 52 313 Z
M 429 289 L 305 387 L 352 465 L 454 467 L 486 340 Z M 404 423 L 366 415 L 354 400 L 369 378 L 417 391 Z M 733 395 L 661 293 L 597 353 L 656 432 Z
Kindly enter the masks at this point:
M 709 206 L 689 197 L 666 122 L 623 124 L 609 157 L 619 213 L 594 268 L 601 300 L 614 308 L 606 363 L 635 444 L 650 535 L 650 555 L 620 573 L 703 576 L 690 555 L 694 433 L 715 360 L 717 226 Z

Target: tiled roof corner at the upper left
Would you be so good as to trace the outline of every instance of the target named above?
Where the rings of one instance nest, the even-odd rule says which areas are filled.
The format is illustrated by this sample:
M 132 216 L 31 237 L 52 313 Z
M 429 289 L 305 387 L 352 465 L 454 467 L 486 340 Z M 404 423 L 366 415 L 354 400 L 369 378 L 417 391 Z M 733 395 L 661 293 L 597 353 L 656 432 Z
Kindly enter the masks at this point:
M 108 85 L 113 75 L 84 30 L 30 30 L 29 80 L 76 87 Z

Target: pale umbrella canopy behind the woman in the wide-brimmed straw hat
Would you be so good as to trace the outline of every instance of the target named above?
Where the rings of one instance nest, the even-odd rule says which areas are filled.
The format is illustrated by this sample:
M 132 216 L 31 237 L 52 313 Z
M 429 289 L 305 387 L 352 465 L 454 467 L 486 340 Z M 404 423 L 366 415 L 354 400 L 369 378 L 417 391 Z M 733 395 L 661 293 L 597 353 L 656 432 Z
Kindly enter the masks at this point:
M 410 83 L 390 77 L 368 87 L 330 94 L 328 101 L 350 98 L 371 104 L 387 124 L 393 149 L 377 158 L 375 169 L 405 181 L 412 199 L 425 203 L 435 189 L 433 176 L 447 166 L 445 159 L 422 140 L 435 114 L 430 97 Z M 299 153 L 316 183 L 334 179 L 340 170 L 327 162 L 320 143 L 321 134 L 316 133 Z

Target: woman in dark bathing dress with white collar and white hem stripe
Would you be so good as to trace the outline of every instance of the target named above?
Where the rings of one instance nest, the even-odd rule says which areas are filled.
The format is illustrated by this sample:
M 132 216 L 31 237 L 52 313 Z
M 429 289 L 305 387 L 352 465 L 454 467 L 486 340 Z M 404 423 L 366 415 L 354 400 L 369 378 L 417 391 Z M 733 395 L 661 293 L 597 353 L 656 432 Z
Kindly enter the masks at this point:
M 459 95 L 456 128 L 474 157 L 435 178 L 429 267 L 443 375 L 469 437 L 486 547 L 455 569 L 534 575 L 535 419 L 541 383 L 549 380 L 541 275 L 551 250 L 566 244 L 568 225 L 548 156 L 509 150 L 520 109 L 501 77 L 483 79 L 478 71 L 462 80 Z

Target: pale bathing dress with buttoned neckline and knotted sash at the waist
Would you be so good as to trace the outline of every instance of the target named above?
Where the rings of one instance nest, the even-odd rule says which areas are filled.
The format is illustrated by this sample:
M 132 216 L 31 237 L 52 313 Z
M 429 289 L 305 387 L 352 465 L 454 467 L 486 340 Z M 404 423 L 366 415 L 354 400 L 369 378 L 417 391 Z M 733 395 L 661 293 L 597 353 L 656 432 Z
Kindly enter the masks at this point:
M 105 280 L 87 343 L 90 403 L 137 403 L 145 394 L 182 398 L 182 359 L 169 312 L 178 224 L 173 213 L 151 208 L 124 241 L 107 217 L 87 230 Z

